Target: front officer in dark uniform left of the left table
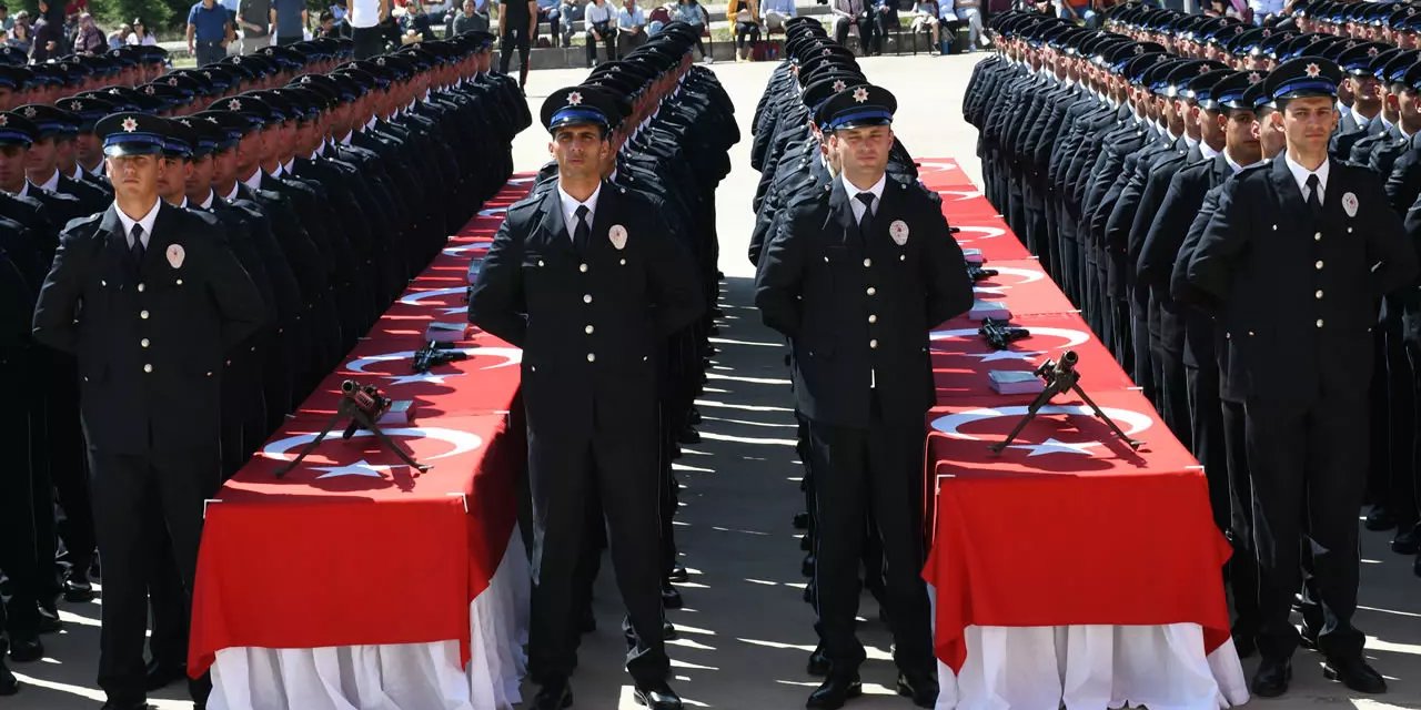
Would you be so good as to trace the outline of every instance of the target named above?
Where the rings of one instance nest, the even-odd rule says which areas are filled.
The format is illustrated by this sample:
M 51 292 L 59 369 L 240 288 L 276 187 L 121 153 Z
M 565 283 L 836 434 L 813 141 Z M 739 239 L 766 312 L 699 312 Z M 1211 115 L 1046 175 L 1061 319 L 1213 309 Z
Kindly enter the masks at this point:
M 78 356 L 105 562 L 98 683 L 107 710 L 136 710 L 146 707 L 146 592 L 159 557 L 149 521 L 163 520 L 190 599 L 202 501 L 219 483 L 223 359 L 263 325 L 266 307 L 216 220 L 159 199 L 163 122 L 115 114 L 95 128 L 115 202 L 61 234 L 34 337 Z M 199 707 L 203 686 L 192 687 Z

